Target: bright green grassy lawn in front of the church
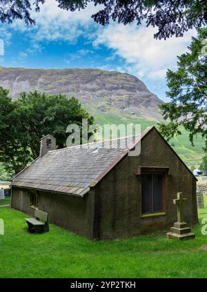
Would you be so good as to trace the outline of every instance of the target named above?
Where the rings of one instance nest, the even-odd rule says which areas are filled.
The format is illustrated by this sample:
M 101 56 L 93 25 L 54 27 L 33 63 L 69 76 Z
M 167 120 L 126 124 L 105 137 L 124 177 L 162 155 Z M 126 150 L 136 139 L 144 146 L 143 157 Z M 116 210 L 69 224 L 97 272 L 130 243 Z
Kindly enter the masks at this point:
M 165 233 L 90 242 L 52 224 L 49 233 L 30 234 L 26 216 L 0 208 L 0 278 L 207 278 L 207 235 L 200 224 L 196 239 L 186 242 L 167 240 Z

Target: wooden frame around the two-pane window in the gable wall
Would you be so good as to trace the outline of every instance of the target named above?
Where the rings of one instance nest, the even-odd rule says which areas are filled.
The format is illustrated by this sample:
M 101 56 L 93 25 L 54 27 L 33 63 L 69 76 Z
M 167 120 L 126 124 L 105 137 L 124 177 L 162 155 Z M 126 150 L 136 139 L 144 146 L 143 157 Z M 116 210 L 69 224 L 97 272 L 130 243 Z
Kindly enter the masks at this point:
M 148 213 L 143 212 L 143 193 L 142 193 L 142 175 L 161 175 L 162 176 L 162 182 L 161 182 L 161 211 L 150 211 Z M 152 195 L 152 194 L 151 194 Z M 151 206 L 150 210 L 153 210 L 152 203 L 153 200 L 151 200 Z M 166 171 L 161 171 L 160 169 L 156 168 L 146 168 L 142 169 L 141 171 L 141 217 L 152 217 L 156 215 L 166 215 Z

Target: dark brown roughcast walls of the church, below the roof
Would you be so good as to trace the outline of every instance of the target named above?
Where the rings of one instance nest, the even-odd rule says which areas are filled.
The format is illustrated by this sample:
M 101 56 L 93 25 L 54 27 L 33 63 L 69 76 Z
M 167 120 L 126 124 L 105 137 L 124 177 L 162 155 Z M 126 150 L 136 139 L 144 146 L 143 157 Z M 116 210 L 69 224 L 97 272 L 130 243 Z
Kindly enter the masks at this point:
M 141 176 L 138 168 L 166 167 L 165 212 L 141 214 Z M 39 209 L 49 214 L 50 223 L 91 240 L 112 240 L 166 231 L 177 221 L 172 203 L 177 192 L 187 198 L 184 218 L 197 224 L 196 179 L 168 146 L 157 130 L 141 139 L 141 155 L 126 156 L 84 197 L 39 191 Z M 12 187 L 12 208 L 34 215 L 26 188 Z

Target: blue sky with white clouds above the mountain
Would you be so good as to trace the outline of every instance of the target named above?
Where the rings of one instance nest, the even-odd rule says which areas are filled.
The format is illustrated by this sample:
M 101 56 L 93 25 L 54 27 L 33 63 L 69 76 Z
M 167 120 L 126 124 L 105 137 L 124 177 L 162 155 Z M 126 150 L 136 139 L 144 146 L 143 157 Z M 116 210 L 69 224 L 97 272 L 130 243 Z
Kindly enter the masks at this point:
M 110 23 L 90 15 L 98 8 L 67 12 L 48 0 L 34 13 L 36 26 L 23 21 L 0 25 L 0 66 L 25 68 L 99 68 L 135 75 L 166 99 L 166 70 L 175 70 L 195 31 L 182 38 L 153 39 L 155 28 Z

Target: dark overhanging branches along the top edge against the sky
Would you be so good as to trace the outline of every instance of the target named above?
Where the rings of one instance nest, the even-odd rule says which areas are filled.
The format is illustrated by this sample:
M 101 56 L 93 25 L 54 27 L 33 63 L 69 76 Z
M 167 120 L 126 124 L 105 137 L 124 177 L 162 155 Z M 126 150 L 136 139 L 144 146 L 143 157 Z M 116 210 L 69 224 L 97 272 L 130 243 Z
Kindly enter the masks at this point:
M 158 28 L 157 39 L 172 35 L 181 37 L 190 28 L 200 28 L 207 23 L 207 2 L 204 0 L 56 0 L 64 10 L 81 10 L 94 3 L 101 5 L 92 18 L 101 25 L 112 21 L 137 25 L 146 22 L 147 26 Z M 27 24 L 35 24 L 30 17 L 32 7 L 38 12 L 45 0 L 0 0 L 0 21 L 11 23 L 23 19 Z M 103 7 L 103 8 L 102 8 Z

